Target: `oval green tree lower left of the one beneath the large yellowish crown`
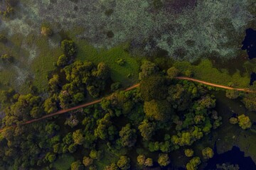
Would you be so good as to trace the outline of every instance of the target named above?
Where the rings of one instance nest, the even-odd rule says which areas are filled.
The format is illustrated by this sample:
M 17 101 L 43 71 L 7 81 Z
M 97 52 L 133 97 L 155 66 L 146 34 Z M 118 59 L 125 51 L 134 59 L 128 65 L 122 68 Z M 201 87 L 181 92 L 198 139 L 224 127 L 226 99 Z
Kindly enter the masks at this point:
M 132 147 L 137 141 L 136 130 L 131 128 L 130 124 L 125 125 L 119 132 L 123 147 Z

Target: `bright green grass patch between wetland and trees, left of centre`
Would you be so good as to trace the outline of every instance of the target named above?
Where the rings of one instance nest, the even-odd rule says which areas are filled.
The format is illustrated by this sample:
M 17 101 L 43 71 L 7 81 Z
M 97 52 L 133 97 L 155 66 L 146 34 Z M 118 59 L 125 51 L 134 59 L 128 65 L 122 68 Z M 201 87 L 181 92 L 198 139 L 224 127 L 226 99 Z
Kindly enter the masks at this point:
M 139 63 L 135 57 L 125 52 L 127 45 L 119 45 L 110 50 L 102 49 L 99 51 L 83 40 L 78 41 L 77 45 L 78 60 L 87 60 L 95 64 L 105 62 L 111 69 L 111 78 L 113 81 L 119 81 L 125 85 L 137 82 Z M 118 59 L 123 59 L 126 63 L 120 66 L 117 64 Z M 131 77 L 128 76 L 129 74 Z

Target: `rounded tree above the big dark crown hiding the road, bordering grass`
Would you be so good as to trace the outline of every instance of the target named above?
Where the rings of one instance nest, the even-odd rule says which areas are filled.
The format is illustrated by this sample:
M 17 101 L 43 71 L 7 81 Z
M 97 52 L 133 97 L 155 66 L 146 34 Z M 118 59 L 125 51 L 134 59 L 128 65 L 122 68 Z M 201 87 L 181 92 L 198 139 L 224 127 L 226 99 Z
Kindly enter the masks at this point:
M 146 77 L 156 74 L 159 71 L 159 68 L 156 67 L 156 64 L 153 62 L 145 61 L 141 66 L 142 72 L 139 73 L 139 79 L 142 80 Z

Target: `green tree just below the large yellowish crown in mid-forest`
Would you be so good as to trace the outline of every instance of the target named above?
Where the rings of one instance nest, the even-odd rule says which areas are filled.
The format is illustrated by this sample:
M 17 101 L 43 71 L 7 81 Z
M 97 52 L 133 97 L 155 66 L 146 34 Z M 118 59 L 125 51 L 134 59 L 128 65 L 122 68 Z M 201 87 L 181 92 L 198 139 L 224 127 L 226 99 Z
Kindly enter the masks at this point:
M 154 135 L 156 125 L 154 123 L 150 123 L 149 120 L 143 120 L 139 125 L 138 129 L 141 132 L 143 140 L 151 140 L 152 135 Z

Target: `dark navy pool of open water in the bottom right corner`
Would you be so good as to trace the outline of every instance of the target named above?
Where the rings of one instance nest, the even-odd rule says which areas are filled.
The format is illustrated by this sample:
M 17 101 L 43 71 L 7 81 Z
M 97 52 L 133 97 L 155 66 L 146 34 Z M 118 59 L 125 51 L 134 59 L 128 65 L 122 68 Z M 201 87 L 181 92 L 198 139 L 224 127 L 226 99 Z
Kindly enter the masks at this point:
M 216 149 L 215 149 L 216 150 Z M 230 151 L 223 154 L 215 153 L 212 159 L 209 159 L 204 169 L 217 169 L 216 164 L 238 164 L 240 170 L 256 169 L 255 162 L 250 157 L 245 157 L 245 152 L 240 151 L 239 147 L 233 147 Z

